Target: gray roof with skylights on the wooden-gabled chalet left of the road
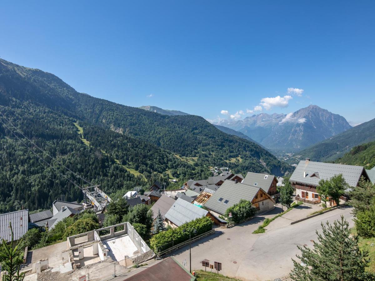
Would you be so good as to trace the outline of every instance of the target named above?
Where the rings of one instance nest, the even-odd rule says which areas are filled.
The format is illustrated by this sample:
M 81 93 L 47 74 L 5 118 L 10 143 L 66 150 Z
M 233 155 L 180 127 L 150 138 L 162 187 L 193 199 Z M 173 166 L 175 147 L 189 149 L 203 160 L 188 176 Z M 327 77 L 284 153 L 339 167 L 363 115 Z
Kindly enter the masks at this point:
M 240 182 L 236 184 L 236 182 L 227 179 L 204 206 L 219 214 L 225 214 L 226 209 L 239 203 L 241 199 L 252 201 L 259 190 L 259 187 Z M 222 198 L 221 202 L 218 201 L 220 198 Z M 225 200 L 228 200 L 228 203 L 225 204 Z

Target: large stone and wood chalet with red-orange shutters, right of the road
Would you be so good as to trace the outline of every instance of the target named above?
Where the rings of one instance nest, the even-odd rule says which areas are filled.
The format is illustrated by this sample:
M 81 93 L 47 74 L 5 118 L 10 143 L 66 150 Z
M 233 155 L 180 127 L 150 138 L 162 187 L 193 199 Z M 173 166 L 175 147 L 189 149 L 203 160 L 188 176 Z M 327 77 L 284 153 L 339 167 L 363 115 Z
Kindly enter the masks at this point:
M 358 185 L 361 176 L 364 176 L 367 180 L 369 179 L 366 170 L 362 166 L 321 163 L 310 161 L 310 158 L 306 158 L 306 160 L 299 162 L 289 181 L 296 188 L 296 200 L 318 204 L 321 202 L 317 193 L 319 181 L 321 179 L 330 179 L 339 174 L 342 174 L 347 184 L 351 187 Z M 346 200 L 345 197 L 341 199 Z

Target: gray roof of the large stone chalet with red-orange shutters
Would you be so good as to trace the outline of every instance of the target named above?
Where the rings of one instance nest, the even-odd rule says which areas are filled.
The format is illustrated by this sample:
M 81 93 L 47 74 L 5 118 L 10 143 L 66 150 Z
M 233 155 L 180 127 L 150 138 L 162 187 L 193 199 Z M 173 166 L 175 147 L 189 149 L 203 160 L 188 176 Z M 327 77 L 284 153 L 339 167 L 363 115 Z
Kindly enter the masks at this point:
M 354 187 L 357 186 L 363 170 L 364 168 L 362 166 L 301 160 L 289 180 L 292 182 L 318 185 L 321 179 L 330 179 L 335 175 L 342 174 L 347 184 Z M 305 177 L 303 177 L 303 172 L 306 172 Z M 314 176 L 314 173 L 319 173 L 318 177 Z

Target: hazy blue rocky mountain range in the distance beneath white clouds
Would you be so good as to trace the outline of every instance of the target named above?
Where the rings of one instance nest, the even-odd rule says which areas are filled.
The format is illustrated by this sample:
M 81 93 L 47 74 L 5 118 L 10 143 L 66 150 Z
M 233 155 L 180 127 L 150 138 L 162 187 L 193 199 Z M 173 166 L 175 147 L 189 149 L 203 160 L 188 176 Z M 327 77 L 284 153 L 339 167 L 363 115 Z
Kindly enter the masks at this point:
M 351 128 L 348 121 L 317 105 L 290 114 L 260 113 L 216 125 L 239 131 L 273 150 L 299 151 Z

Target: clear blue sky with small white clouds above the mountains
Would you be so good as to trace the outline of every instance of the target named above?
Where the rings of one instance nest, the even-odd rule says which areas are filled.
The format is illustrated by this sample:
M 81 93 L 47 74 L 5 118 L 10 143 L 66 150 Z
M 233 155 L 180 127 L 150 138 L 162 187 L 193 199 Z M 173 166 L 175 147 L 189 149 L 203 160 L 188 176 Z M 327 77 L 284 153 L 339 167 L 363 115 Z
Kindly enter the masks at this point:
M 375 118 L 375 1 L 1 1 L 0 10 L 1 58 L 95 97 L 208 119 L 310 104 L 351 124 Z

